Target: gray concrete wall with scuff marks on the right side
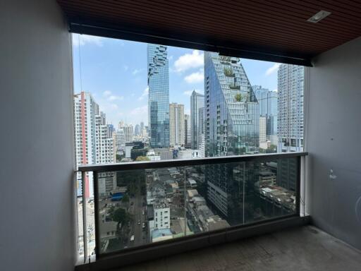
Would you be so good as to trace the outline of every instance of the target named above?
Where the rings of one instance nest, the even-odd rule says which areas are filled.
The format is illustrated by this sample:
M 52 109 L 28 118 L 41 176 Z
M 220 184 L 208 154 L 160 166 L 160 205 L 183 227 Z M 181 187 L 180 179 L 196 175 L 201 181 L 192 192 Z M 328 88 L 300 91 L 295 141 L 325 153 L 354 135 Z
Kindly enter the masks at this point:
M 310 215 L 361 249 L 361 37 L 314 59 L 306 104 Z

